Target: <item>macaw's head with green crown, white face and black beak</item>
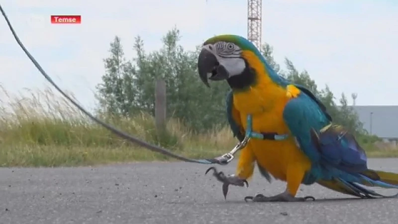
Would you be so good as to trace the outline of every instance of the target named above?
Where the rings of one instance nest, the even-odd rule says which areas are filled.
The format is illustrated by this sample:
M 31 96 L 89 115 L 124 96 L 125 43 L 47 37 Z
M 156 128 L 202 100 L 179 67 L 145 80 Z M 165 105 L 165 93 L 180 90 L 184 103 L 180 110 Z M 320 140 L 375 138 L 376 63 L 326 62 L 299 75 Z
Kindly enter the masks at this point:
M 244 89 L 253 85 L 256 82 L 256 73 L 249 65 L 245 52 L 262 58 L 254 44 L 244 37 L 218 35 L 207 39 L 198 58 L 201 81 L 207 87 L 209 80 L 226 80 L 233 89 Z

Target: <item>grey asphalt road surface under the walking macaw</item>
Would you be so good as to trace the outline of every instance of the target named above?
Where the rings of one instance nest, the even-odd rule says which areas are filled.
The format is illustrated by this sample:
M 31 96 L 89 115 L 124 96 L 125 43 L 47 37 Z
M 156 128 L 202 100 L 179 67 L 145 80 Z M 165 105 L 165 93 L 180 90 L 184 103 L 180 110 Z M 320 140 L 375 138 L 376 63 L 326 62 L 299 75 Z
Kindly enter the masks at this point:
M 233 173 L 235 164 L 220 166 Z M 398 159 L 372 159 L 369 167 L 398 172 Z M 318 185 L 302 186 L 304 203 L 245 203 L 277 194 L 256 170 L 249 188 L 221 185 L 205 165 L 133 163 L 79 168 L 1 168 L 1 224 L 396 224 L 398 199 L 347 199 Z M 391 193 L 390 191 L 383 191 Z

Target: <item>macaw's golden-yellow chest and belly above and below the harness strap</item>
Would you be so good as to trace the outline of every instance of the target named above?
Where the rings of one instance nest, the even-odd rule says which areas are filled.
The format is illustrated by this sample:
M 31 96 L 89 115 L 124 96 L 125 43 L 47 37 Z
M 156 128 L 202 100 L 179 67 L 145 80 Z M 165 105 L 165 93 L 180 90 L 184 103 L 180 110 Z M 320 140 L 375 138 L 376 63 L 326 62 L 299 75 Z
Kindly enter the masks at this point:
M 284 96 L 284 95 L 282 95 Z M 275 99 L 275 98 L 274 98 Z M 270 104 L 260 103 L 258 98 L 247 98 L 242 94 L 234 95 L 234 107 L 239 111 L 243 128 L 247 128 L 247 115 L 252 114 L 252 129 L 255 132 L 276 132 L 290 134 L 289 128 L 283 119 L 283 110 L 288 97 L 276 98 Z M 263 99 L 264 100 L 264 99 Z M 297 164 L 310 168 L 309 159 L 298 148 L 296 140 L 289 137 L 286 140 L 262 140 L 252 138 L 248 146 L 253 150 L 257 163 L 266 168 L 275 178 L 286 180 L 289 165 Z

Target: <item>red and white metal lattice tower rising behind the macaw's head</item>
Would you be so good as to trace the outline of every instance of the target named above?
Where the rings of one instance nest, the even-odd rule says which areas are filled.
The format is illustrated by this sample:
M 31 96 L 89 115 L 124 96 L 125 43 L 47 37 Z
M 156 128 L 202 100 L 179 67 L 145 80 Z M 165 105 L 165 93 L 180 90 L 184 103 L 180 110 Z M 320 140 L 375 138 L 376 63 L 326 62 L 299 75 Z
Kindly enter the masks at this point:
M 247 39 L 261 49 L 262 0 L 247 0 Z

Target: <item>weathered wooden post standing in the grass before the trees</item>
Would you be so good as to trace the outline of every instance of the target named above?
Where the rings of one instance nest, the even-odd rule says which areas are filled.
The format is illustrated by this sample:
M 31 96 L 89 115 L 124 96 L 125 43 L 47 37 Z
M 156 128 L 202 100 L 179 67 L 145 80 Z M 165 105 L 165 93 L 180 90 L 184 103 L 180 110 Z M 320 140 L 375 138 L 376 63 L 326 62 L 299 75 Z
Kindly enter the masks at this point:
M 162 133 L 166 128 L 166 82 L 162 79 L 156 80 L 155 124 L 158 133 Z

